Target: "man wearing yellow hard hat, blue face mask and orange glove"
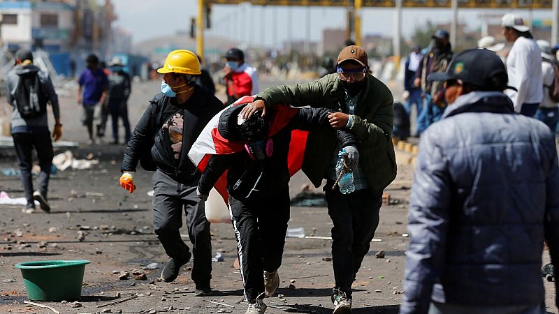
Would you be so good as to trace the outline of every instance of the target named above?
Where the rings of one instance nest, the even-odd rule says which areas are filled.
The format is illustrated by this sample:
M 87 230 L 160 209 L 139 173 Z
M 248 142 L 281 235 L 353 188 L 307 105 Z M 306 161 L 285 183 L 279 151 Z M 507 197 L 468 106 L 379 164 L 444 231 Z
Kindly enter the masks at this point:
M 136 189 L 133 173 L 138 161 L 145 170 L 155 171 L 152 177 L 154 231 L 170 257 L 161 279 L 174 281 L 180 267 L 194 254 L 195 295 L 206 296 L 211 293 L 212 277 L 210 223 L 205 218 L 204 202 L 196 195 L 201 174 L 187 152 L 208 121 L 224 106 L 211 91 L 194 83 L 201 74 L 194 52 L 170 52 L 157 72 L 163 75 L 161 93 L 150 100 L 126 146 L 120 185 L 130 193 Z M 187 212 L 192 253 L 180 239 L 183 207 Z

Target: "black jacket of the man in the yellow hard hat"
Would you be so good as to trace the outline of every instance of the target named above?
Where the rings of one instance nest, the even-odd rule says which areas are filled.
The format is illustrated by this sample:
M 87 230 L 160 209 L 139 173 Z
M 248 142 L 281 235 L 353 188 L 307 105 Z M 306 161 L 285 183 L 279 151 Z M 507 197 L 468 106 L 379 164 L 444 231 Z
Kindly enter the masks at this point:
M 208 121 L 223 108 L 221 100 L 199 85 L 194 86 L 194 94 L 182 104 L 177 104 L 176 98 L 157 94 L 150 100 L 126 146 L 121 171 L 135 171 L 143 152 L 151 150 L 159 170 L 177 182 L 196 185 L 200 172 L 189 160 L 188 151 Z M 180 110 L 184 115 L 182 150 L 179 160 L 175 160 L 170 138 L 164 136 L 161 126 Z

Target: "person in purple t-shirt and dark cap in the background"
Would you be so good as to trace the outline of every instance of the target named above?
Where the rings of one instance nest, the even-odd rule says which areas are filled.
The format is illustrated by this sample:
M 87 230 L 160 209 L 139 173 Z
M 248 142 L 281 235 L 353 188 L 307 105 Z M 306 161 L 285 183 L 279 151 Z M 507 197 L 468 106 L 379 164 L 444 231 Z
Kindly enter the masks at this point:
M 78 84 L 78 104 L 83 107 L 82 123 L 87 127 L 89 141 L 95 144 L 95 135 L 93 133 L 93 121 L 96 116 L 96 107 L 105 103 L 108 89 L 108 78 L 99 68 L 99 58 L 95 54 L 89 54 L 87 59 L 87 68 L 80 75 Z M 98 109 L 98 110 L 99 110 Z M 98 119 L 101 117 L 97 117 Z M 97 130 L 99 133 L 99 130 Z

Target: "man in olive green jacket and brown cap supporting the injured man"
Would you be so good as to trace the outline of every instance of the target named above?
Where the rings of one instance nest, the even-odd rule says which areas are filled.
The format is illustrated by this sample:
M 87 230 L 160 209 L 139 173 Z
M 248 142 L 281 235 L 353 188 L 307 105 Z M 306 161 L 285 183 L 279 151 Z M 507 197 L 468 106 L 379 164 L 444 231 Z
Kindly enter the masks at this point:
M 256 111 L 266 114 L 266 107 L 277 103 L 330 108 L 331 125 L 349 130 L 359 142 L 353 193 L 332 190 L 337 152 L 341 149 L 333 130 L 309 133 L 303 161 L 303 172 L 314 186 L 327 179 L 324 190 L 328 214 L 334 223 L 334 313 L 351 313 L 351 283 L 377 229 L 382 191 L 396 176 L 391 142 L 394 116 L 391 91 L 369 74 L 365 50 L 348 46 L 338 56 L 337 73 L 307 84 L 266 89 L 242 113 L 245 119 Z

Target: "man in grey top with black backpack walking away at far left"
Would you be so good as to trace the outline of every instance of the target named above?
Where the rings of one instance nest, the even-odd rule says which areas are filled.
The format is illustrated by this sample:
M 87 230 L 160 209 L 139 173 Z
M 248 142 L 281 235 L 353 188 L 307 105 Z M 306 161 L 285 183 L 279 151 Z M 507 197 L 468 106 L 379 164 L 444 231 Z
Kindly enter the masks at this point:
M 50 212 L 48 184 L 54 152 L 48 128 L 47 103 L 52 106 L 55 117 L 52 138 L 57 141 L 62 137 L 58 96 L 48 73 L 34 66 L 33 54 L 29 50 L 17 50 L 15 62 L 16 66 L 6 77 L 6 101 L 13 106 L 11 132 L 27 200 L 25 210 L 33 212 L 36 200 L 43 211 Z M 35 191 L 31 176 L 33 149 L 41 166 L 38 190 Z

